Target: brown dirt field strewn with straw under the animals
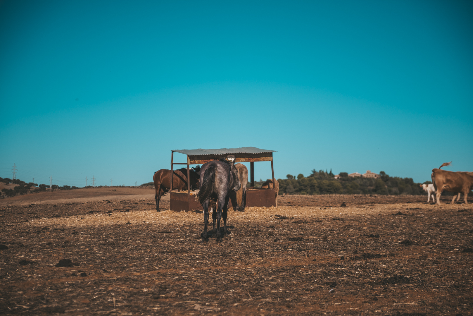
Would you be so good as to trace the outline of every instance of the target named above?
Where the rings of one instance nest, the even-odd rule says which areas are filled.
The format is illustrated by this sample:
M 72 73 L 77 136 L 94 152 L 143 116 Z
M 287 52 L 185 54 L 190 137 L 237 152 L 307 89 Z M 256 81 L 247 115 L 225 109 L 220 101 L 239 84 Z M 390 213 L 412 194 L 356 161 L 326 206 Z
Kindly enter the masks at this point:
M 471 204 L 286 196 L 278 208 L 229 211 L 228 237 L 202 245 L 203 214 L 157 213 L 154 198 L 14 199 L 17 205 L 5 199 L 0 207 L 5 315 L 419 316 L 473 309 Z M 70 266 L 56 266 L 61 259 Z

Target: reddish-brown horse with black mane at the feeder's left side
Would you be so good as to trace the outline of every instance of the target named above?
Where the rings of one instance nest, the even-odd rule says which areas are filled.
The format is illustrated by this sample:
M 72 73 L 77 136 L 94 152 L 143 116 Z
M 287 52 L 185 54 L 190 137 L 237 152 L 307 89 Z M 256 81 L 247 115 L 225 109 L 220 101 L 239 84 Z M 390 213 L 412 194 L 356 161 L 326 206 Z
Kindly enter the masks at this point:
M 201 167 L 197 166 L 190 170 L 191 176 L 191 189 L 199 188 L 199 177 Z M 178 170 L 173 170 L 173 190 L 178 189 L 179 191 L 187 189 L 187 168 L 181 168 Z M 169 169 L 161 169 L 154 173 L 153 175 L 154 189 L 156 190 L 155 200 L 156 200 L 156 211 L 159 212 L 159 200 L 165 194 L 171 191 L 171 171 Z

